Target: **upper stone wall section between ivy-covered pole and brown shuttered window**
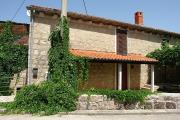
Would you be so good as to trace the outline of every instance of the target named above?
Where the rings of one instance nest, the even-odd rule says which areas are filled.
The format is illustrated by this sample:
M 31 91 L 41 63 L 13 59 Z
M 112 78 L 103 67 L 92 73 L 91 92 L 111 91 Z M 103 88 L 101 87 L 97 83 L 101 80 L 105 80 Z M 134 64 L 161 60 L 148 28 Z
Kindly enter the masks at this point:
M 116 52 L 115 27 L 82 21 L 70 22 L 70 47 L 73 49 Z

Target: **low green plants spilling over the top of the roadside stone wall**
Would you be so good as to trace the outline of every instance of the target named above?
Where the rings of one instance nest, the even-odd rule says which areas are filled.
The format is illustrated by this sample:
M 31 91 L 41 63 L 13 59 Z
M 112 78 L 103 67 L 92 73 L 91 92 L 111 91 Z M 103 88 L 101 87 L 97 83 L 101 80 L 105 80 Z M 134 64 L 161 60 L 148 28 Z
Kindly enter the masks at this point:
M 152 94 L 148 90 L 109 90 L 109 89 L 90 89 L 86 91 L 87 94 L 106 95 L 108 98 L 114 99 L 119 103 L 131 104 L 143 102 L 144 99 Z

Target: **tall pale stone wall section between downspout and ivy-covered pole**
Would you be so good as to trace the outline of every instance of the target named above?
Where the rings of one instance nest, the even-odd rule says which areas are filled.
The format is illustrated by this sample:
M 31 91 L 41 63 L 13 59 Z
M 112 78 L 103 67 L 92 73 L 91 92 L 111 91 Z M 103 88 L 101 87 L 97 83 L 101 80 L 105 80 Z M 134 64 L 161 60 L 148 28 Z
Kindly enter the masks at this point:
M 38 69 L 37 78 L 33 79 L 33 83 L 38 84 L 45 80 L 48 72 L 48 51 L 50 41 L 48 40 L 50 31 L 56 24 L 56 20 L 52 18 L 35 17 L 32 30 L 32 69 Z

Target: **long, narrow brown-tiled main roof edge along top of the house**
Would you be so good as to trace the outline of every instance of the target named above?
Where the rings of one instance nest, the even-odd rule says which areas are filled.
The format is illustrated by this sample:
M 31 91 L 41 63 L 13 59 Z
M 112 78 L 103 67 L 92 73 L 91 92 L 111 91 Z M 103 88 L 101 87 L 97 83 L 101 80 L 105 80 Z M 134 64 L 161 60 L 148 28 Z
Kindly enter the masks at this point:
M 36 12 L 44 12 L 45 14 L 48 14 L 48 15 L 56 14 L 56 15 L 60 16 L 60 13 L 61 13 L 61 11 L 58 9 L 52 9 L 52 8 L 40 7 L 40 6 L 34 6 L 34 5 L 28 6 L 27 9 L 35 10 Z M 142 25 L 130 24 L 130 23 L 125 23 L 125 22 L 121 22 L 121 21 L 101 18 L 101 17 L 84 15 L 84 14 L 79 14 L 79 13 L 75 13 L 75 12 L 68 12 L 68 17 L 71 19 L 81 19 L 84 21 L 92 21 L 93 23 L 103 23 L 105 25 L 122 27 L 124 29 L 145 31 L 148 33 L 169 35 L 169 36 L 174 36 L 174 37 L 180 38 L 180 33 L 176 33 L 176 32 L 170 32 L 170 31 L 166 31 L 166 30 L 156 29 L 156 28 L 152 28 L 152 27 L 146 27 L 146 26 L 142 26 Z

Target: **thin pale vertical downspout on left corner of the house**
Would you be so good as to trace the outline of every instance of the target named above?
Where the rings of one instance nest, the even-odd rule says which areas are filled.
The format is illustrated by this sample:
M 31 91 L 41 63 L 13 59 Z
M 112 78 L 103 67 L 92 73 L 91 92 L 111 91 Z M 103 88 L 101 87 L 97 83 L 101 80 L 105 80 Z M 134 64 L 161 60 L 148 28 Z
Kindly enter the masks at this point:
M 33 30 L 33 16 L 32 11 L 30 11 L 30 30 L 29 30 L 29 40 L 28 40 L 28 79 L 27 84 L 30 85 L 32 83 L 32 30 Z

